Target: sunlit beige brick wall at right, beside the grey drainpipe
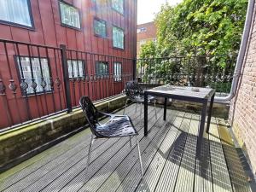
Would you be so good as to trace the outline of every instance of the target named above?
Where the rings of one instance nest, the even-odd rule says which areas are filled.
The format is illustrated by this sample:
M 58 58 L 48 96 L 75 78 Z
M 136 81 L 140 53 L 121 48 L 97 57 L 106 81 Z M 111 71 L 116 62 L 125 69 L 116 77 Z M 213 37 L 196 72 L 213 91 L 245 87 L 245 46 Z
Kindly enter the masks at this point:
M 256 8 L 256 4 L 254 9 Z M 255 10 L 254 10 L 255 12 Z M 256 172 L 256 22 L 247 44 L 241 79 L 230 106 L 230 123 L 243 149 L 247 151 Z

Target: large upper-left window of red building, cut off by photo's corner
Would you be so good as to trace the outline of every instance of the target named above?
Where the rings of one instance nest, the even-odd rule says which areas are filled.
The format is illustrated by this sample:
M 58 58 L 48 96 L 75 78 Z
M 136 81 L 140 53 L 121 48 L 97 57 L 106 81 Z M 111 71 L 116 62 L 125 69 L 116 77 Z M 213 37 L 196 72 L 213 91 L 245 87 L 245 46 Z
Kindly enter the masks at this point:
M 0 0 L 0 20 L 33 27 L 29 0 Z

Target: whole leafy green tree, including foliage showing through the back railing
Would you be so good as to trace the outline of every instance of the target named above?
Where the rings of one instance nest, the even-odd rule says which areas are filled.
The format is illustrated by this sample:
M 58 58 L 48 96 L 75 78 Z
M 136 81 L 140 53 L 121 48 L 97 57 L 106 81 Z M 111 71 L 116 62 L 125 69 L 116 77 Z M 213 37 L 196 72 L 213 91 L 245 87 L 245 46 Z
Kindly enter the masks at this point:
M 146 79 L 152 73 L 193 73 L 198 77 L 206 71 L 213 76 L 232 73 L 236 62 L 230 63 L 230 55 L 238 54 L 246 11 L 247 0 L 183 0 L 175 7 L 166 3 L 155 18 L 157 44 L 143 45 L 140 58 L 183 57 L 189 64 L 181 61 L 177 67 L 172 59 L 142 60 L 139 66 L 145 67 Z

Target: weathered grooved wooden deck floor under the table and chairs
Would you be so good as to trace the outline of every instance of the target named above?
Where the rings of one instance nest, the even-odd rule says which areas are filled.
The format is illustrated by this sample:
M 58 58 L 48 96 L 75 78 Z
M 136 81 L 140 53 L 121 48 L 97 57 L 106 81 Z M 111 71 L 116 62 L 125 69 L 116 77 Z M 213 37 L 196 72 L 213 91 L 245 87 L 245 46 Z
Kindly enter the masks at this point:
M 141 179 L 135 137 L 96 140 L 84 175 L 90 130 L 80 132 L 0 175 L 0 191 L 251 191 L 241 162 L 218 135 L 221 119 L 212 118 L 202 160 L 195 158 L 200 116 L 148 107 L 148 137 L 143 137 L 139 110 L 126 109 L 139 130 L 144 179 Z M 122 112 L 119 112 L 122 113 Z

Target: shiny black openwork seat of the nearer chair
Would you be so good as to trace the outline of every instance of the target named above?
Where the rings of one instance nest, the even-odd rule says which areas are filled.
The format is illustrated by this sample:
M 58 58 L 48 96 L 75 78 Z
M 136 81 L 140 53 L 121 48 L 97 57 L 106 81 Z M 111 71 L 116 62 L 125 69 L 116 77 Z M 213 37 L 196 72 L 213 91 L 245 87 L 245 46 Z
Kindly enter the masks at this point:
M 138 134 L 127 115 L 114 117 L 106 124 L 97 125 L 96 133 L 96 137 L 127 137 Z

